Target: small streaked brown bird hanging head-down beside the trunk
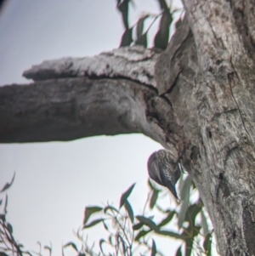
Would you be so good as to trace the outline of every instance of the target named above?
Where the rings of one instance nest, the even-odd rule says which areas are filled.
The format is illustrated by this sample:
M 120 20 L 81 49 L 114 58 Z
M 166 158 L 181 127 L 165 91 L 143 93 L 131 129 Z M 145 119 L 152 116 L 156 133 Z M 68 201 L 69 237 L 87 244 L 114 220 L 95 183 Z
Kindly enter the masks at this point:
M 178 199 L 175 185 L 180 177 L 178 163 L 173 161 L 170 151 L 160 150 L 152 153 L 147 162 L 150 179 L 157 184 L 167 187 L 173 196 Z

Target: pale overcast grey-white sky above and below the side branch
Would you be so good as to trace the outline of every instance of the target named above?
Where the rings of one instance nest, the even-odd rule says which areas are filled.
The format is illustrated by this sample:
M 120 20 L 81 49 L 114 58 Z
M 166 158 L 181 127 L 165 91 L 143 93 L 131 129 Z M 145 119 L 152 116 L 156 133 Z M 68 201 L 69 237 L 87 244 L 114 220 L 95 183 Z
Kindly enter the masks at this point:
M 155 0 L 135 0 L 131 24 L 142 11 L 158 13 Z M 117 48 L 121 16 L 114 0 L 9 0 L 0 17 L 0 85 L 29 82 L 22 72 L 42 60 L 82 57 Z M 155 33 L 156 26 L 150 31 Z M 88 205 L 119 203 L 133 182 L 135 213 L 147 195 L 146 162 L 161 148 L 144 135 L 94 137 L 71 142 L 0 145 L 0 187 L 16 173 L 8 191 L 8 221 L 28 249 L 37 241 L 61 245 L 75 241 Z M 170 203 L 170 202 L 169 202 Z M 100 232 L 97 234 L 100 235 Z M 101 236 L 88 230 L 89 242 Z M 178 243 L 161 242 L 167 255 Z

